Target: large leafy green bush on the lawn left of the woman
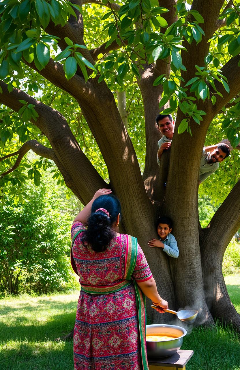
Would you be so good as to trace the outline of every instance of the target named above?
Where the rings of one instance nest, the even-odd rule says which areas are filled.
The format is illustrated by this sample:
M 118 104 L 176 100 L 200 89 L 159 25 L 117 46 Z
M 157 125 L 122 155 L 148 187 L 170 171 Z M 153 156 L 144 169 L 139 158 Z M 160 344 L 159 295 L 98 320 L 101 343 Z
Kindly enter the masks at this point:
M 64 290 L 74 284 L 70 272 L 68 213 L 58 211 L 58 196 L 47 185 L 28 185 L 28 199 L 8 198 L 0 210 L 0 289 L 17 294 Z

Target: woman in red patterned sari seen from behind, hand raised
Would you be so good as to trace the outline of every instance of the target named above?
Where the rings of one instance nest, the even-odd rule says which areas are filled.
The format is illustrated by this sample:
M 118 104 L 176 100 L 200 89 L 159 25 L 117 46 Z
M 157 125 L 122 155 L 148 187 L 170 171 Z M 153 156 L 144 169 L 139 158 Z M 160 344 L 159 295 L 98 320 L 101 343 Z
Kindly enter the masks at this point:
M 98 190 L 72 224 L 71 263 L 81 284 L 74 369 L 147 370 L 144 295 L 159 312 L 168 303 L 137 239 L 117 231 L 121 206 L 110 193 Z

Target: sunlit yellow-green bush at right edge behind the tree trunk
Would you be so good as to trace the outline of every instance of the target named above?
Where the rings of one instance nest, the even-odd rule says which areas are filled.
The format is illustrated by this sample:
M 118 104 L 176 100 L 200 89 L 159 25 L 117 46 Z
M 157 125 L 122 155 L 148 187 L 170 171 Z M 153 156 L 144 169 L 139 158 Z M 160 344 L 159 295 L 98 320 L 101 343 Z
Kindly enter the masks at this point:
M 232 239 L 223 257 L 223 275 L 240 274 L 240 243 Z

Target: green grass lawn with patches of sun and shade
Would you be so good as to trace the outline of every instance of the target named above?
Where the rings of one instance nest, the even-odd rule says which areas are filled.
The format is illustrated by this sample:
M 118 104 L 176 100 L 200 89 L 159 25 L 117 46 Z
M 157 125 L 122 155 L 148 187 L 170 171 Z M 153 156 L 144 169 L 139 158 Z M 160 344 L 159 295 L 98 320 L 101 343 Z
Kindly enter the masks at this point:
M 240 312 L 240 276 L 225 280 Z M 73 370 L 73 341 L 54 339 L 72 330 L 78 295 L 0 300 L 0 370 Z M 240 370 L 240 336 L 230 329 L 195 328 L 182 349 L 194 350 L 186 370 Z

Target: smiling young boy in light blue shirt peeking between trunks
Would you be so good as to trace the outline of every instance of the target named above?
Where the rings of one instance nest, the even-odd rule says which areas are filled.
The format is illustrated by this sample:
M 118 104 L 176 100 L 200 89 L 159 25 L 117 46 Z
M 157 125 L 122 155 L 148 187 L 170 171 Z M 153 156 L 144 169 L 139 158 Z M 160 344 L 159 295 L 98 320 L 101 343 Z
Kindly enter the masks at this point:
M 171 234 L 172 220 L 169 217 L 160 217 L 157 221 L 159 239 L 149 240 L 148 246 L 162 248 L 168 256 L 178 258 L 179 250 L 176 239 Z

